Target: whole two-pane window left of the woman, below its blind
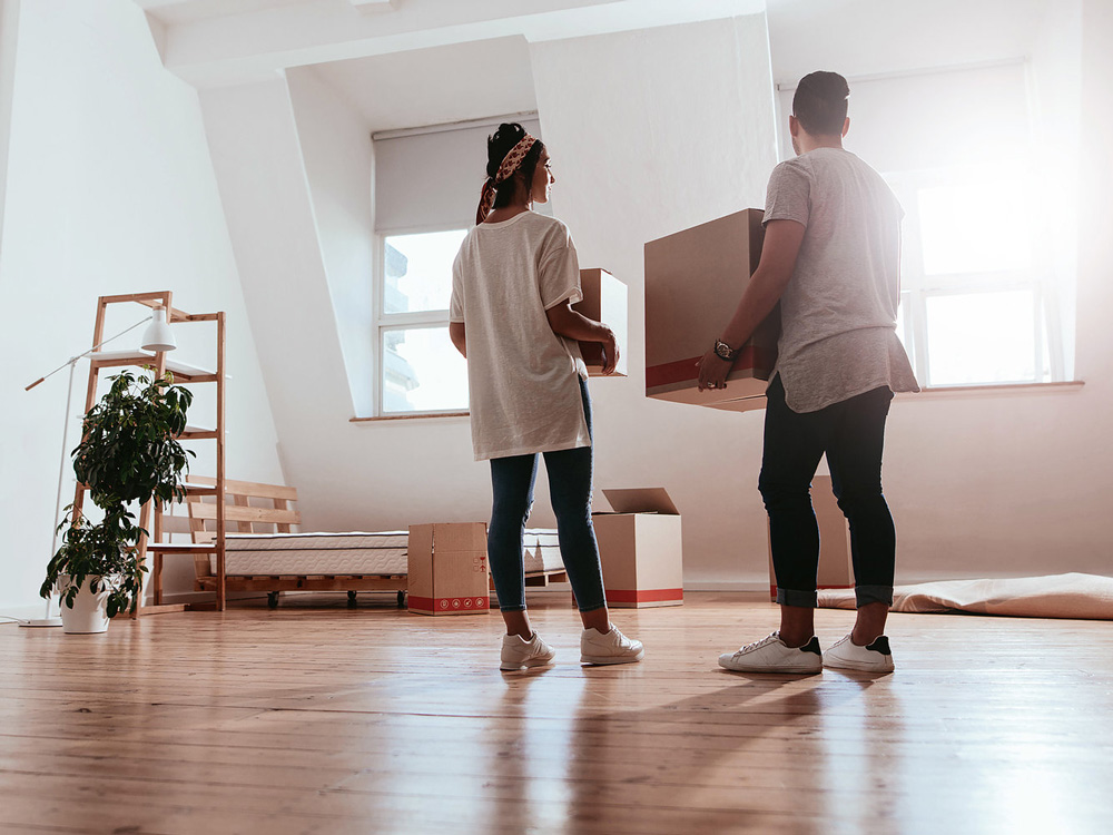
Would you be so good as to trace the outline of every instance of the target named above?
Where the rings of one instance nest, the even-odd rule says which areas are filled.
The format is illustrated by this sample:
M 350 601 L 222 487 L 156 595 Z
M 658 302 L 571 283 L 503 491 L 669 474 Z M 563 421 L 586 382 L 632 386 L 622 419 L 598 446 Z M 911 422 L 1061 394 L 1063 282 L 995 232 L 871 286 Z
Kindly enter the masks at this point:
M 452 262 L 465 229 L 383 237 L 383 415 L 467 409 L 467 366 L 449 340 Z

